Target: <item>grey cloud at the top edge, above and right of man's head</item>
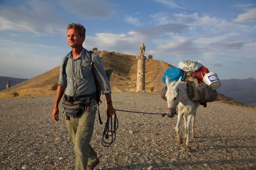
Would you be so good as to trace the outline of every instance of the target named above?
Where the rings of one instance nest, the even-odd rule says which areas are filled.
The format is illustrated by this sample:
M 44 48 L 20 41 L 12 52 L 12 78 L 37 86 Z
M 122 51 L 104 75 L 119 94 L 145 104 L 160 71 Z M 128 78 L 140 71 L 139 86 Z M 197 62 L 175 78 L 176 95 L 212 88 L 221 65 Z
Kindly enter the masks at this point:
M 107 0 L 56 0 L 60 6 L 68 12 L 72 12 L 81 18 L 108 19 L 114 13 L 113 4 Z

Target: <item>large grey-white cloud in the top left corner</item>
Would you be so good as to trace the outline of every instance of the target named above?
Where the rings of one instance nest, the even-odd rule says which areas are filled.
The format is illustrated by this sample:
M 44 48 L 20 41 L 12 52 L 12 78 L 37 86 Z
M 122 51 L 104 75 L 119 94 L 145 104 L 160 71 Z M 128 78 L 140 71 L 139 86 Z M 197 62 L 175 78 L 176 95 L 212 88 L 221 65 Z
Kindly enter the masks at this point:
M 37 35 L 62 31 L 65 21 L 51 3 L 42 0 L 28 0 L 18 7 L 0 4 L 0 30 L 19 30 Z

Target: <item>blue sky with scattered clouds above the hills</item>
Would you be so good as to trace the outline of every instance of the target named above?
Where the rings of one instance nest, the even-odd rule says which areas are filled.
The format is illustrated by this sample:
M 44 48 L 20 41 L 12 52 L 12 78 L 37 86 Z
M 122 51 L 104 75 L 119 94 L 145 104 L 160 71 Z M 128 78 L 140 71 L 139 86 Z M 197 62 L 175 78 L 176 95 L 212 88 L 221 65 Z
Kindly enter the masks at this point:
M 60 65 L 72 22 L 86 28 L 88 50 L 139 55 L 144 42 L 146 56 L 174 66 L 197 60 L 220 79 L 256 78 L 255 0 L 1 0 L 0 76 Z

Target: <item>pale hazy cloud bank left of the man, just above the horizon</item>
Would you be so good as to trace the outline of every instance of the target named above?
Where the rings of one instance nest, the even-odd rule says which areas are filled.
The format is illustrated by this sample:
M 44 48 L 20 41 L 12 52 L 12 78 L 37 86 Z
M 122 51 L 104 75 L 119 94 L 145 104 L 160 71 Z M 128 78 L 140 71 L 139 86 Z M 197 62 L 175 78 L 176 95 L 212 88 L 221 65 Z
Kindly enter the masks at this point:
M 60 65 L 62 56 L 68 53 L 68 50 L 68 48 L 0 40 L 0 73 L 7 77 L 35 77 Z

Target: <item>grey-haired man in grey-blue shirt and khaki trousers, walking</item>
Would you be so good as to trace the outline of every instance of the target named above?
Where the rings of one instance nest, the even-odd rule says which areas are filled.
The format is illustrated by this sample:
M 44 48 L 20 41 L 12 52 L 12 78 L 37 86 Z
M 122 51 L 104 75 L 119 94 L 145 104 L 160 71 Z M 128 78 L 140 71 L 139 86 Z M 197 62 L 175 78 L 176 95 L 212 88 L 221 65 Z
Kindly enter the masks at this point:
M 70 117 L 66 114 L 66 126 L 68 135 L 75 145 L 75 168 L 76 170 L 90 170 L 98 165 L 99 159 L 97 153 L 90 145 L 92 137 L 95 114 L 97 110 L 96 95 L 99 95 L 96 89 L 94 76 L 90 69 L 89 52 L 83 48 L 85 40 L 85 28 L 81 24 L 71 23 L 67 27 L 68 45 L 72 51 L 63 57 L 60 65 L 60 77 L 57 88 L 57 95 L 52 111 L 52 118 L 59 121 L 58 105 L 65 93 L 65 100 L 72 103 L 73 101 L 86 100 L 92 97 L 91 104 L 86 107 L 86 111 L 80 115 Z M 65 70 L 66 57 L 68 57 Z M 108 103 L 107 114 L 112 116 L 115 109 L 111 101 L 110 84 L 105 73 L 103 64 L 99 55 L 92 53 L 92 62 L 97 81 L 105 94 Z M 66 76 L 63 76 L 65 71 Z

